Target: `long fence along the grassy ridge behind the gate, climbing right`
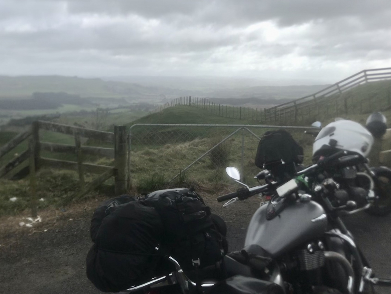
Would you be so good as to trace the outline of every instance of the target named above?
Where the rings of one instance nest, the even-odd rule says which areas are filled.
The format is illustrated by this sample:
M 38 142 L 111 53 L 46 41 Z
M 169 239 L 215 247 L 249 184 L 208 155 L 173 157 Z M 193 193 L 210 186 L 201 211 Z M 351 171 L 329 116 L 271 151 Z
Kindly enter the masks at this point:
M 391 84 L 378 81 L 391 79 L 391 68 L 362 70 L 321 91 L 283 103 L 271 108 L 250 108 L 217 104 L 207 98 L 178 97 L 150 113 L 176 105 L 188 105 L 210 111 L 213 115 L 239 120 L 256 121 L 264 124 L 307 124 L 314 120 L 338 117 L 349 113 L 370 113 L 391 108 Z M 357 86 L 359 93 L 348 91 Z

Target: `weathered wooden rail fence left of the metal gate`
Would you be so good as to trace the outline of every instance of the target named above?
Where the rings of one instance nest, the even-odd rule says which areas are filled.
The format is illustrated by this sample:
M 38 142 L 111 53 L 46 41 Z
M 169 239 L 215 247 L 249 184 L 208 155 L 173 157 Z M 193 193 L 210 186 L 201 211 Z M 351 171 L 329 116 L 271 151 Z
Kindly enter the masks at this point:
M 75 137 L 75 145 L 57 144 L 41 142 L 39 140 L 39 130 L 47 130 L 57 133 L 69 134 Z M 100 142 L 113 143 L 114 148 L 82 146 L 80 138 L 92 138 Z M 0 178 L 6 176 L 11 170 L 26 160 L 29 160 L 29 177 L 31 193 L 32 216 L 37 214 L 36 195 L 36 171 L 41 167 L 51 167 L 55 169 L 76 170 L 79 174 L 79 190 L 68 196 L 64 202 L 67 203 L 74 198 L 82 197 L 89 191 L 97 188 L 110 177 L 115 178 L 115 194 L 126 193 L 126 127 L 119 125 L 114 127 L 114 133 L 84 129 L 72 125 L 56 124 L 45 121 L 35 121 L 30 129 L 19 134 L 7 144 L 0 148 L 0 158 L 11 151 L 14 147 L 29 138 L 29 148 L 13 160 L 0 167 Z M 41 157 L 41 150 L 52 152 L 64 152 L 76 154 L 77 161 L 57 160 Z M 114 167 L 84 163 L 83 156 L 86 154 L 105 156 L 114 158 Z M 84 173 L 99 174 L 93 181 L 85 183 Z

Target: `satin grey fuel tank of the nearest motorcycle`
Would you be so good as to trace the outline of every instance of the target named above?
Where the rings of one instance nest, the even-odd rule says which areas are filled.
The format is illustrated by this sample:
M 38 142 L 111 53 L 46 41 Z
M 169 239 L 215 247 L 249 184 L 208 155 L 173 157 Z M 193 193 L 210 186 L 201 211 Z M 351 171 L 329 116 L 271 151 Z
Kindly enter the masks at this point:
M 244 245 L 257 244 L 273 257 L 321 237 L 326 231 L 325 210 L 314 201 L 292 203 L 269 221 L 266 211 L 267 205 L 263 205 L 253 215 Z

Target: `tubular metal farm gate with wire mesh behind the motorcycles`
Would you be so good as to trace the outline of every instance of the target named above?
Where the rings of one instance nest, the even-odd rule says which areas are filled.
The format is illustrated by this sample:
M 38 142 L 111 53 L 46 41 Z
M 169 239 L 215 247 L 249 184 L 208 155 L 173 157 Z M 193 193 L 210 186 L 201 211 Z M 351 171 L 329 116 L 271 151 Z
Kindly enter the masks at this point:
M 300 145 L 314 138 L 314 127 L 276 125 L 135 124 L 129 130 L 128 183 L 138 192 L 171 184 L 208 185 L 227 180 L 224 169 L 237 167 L 248 183 L 259 172 L 254 164 L 265 131 L 289 129 Z M 310 160 L 307 150 L 305 158 Z

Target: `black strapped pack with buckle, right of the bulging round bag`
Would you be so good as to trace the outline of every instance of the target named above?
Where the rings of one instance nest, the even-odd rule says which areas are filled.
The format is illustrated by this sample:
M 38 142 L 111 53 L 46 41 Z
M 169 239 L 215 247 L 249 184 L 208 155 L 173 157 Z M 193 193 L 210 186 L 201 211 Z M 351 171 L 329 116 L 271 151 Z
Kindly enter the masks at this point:
M 157 210 L 163 222 L 162 248 L 185 271 L 216 264 L 226 254 L 224 221 L 211 217 L 210 208 L 194 191 L 159 190 L 148 194 L 144 202 Z

